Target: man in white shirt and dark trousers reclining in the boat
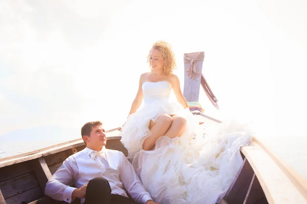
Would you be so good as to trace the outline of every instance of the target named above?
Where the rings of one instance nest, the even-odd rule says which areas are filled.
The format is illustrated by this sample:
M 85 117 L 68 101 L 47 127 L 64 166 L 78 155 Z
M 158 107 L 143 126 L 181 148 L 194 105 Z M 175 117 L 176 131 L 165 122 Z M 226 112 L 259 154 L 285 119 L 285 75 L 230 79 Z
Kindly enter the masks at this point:
M 63 162 L 47 182 L 45 194 L 68 203 L 80 198 L 86 204 L 157 204 L 145 191 L 124 154 L 105 148 L 104 132 L 100 121 L 83 125 L 85 149 Z M 72 184 L 76 188 L 70 187 Z

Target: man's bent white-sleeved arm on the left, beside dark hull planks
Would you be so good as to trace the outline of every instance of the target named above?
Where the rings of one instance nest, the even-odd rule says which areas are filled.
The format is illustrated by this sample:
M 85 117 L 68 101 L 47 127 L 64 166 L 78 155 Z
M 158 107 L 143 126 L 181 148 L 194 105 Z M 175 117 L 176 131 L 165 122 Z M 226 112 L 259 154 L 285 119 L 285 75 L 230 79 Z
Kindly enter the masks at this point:
M 70 187 L 77 176 L 78 166 L 74 157 L 67 158 L 47 182 L 45 194 L 49 197 L 71 203 L 72 193 L 76 188 Z

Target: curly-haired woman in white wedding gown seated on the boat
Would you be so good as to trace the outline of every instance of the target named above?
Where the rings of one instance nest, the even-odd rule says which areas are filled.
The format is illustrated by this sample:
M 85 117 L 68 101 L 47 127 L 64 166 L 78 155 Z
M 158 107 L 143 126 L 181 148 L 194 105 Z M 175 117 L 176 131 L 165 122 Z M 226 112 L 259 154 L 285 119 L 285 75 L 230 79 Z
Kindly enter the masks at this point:
M 250 143 L 251 130 L 234 121 L 206 131 L 199 127 L 172 73 L 176 62 L 168 43 L 153 44 L 147 62 L 151 71 L 140 77 L 121 132 L 128 159 L 158 203 L 221 201 L 242 164 L 239 148 Z

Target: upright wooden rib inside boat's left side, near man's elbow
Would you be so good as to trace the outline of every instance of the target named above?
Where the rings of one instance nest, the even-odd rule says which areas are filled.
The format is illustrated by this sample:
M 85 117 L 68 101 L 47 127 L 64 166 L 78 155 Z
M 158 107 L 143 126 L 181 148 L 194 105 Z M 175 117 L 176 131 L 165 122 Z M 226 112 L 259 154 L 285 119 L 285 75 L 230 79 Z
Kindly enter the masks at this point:
M 41 191 L 45 192 L 46 183 L 52 176 L 45 159 L 38 158 L 32 160 L 32 167 Z

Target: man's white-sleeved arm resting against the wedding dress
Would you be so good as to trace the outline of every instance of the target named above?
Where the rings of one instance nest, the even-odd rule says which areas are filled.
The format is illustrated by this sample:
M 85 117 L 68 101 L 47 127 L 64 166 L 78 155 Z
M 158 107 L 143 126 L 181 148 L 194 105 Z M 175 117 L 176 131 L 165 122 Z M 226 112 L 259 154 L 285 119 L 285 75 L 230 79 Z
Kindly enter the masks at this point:
M 122 162 L 120 166 L 120 181 L 124 185 L 129 195 L 138 203 L 145 204 L 147 201 L 152 200 L 150 194 L 146 192 L 142 186 L 135 170 L 131 163 L 127 160 L 125 155 L 119 151 L 122 156 Z M 149 203 L 149 202 L 147 202 Z M 155 203 L 155 202 L 153 202 Z

